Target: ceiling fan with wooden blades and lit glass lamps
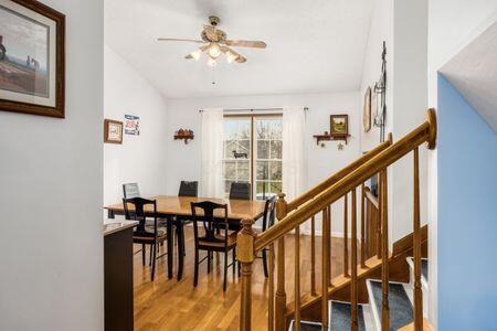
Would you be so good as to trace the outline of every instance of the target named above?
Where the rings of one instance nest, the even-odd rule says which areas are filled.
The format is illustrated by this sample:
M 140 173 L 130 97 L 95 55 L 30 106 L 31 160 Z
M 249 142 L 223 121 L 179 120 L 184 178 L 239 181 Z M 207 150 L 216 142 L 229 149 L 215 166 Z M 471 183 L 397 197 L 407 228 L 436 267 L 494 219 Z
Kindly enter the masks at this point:
M 215 66 L 218 58 L 221 54 L 226 56 L 228 63 L 246 62 L 246 57 L 234 51 L 230 46 L 236 47 L 252 47 L 252 49 L 265 49 L 266 43 L 263 41 L 246 41 L 246 40 L 229 40 L 226 33 L 218 29 L 218 24 L 221 20 L 218 17 L 209 17 L 210 25 L 204 25 L 200 34 L 201 40 L 194 39 L 176 39 L 176 38 L 159 38 L 158 41 L 180 41 L 180 42 L 193 42 L 202 44 L 198 50 L 191 52 L 184 58 L 199 60 L 202 53 L 208 56 L 208 64 Z

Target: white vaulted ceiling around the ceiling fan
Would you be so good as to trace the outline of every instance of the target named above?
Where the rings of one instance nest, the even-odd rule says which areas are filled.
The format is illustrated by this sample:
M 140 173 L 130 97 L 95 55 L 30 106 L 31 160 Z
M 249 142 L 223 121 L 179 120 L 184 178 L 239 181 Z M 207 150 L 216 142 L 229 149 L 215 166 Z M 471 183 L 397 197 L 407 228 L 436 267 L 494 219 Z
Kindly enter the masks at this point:
M 166 97 L 359 89 L 371 0 L 105 0 L 105 41 Z M 229 39 L 263 40 L 266 50 L 236 47 L 245 64 L 184 55 L 211 14 Z M 212 85 L 215 79 L 216 84 Z

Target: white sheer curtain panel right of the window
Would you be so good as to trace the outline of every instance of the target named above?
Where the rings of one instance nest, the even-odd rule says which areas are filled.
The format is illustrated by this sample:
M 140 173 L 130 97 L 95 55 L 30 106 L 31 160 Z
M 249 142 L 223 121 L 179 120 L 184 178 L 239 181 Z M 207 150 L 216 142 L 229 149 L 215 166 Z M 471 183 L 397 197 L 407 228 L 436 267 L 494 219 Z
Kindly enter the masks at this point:
M 283 109 L 283 193 L 290 201 L 303 193 L 306 183 L 306 115 L 303 107 Z

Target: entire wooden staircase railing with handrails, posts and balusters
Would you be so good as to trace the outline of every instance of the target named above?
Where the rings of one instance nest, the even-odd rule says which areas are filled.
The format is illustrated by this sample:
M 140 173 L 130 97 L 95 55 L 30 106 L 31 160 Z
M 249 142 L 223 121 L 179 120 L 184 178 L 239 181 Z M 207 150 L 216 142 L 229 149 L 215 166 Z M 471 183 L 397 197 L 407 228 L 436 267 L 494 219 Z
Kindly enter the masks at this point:
M 243 220 L 243 229 L 239 233 L 236 256 L 242 264 L 242 295 L 240 329 L 251 330 L 251 306 L 252 306 L 252 264 L 256 253 L 268 247 L 269 249 L 269 286 L 268 286 L 268 330 L 283 331 L 287 328 L 287 302 L 285 288 L 285 235 L 294 231 L 295 239 L 295 279 L 294 279 L 294 330 L 300 329 L 300 307 L 302 307 L 302 284 L 300 284 L 300 225 L 310 221 L 311 228 L 311 277 L 310 296 L 320 296 L 321 300 L 321 323 L 324 329 L 328 328 L 328 293 L 334 288 L 331 284 L 331 206 L 343 197 L 343 277 L 350 278 L 350 302 L 351 302 L 351 329 L 358 329 L 358 266 L 366 266 L 367 254 L 373 254 L 381 259 L 382 274 L 382 330 L 389 330 L 389 237 L 388 237 L 388 167 L 410 152 L 414 154 L 414 215 L 413 215 L 413 252 L 414 252 L 414 330 L 421 331 L 423 328 L 423 308 L 421 290 L 421 220 L 420 220 L 420 173 L 419 173 L 419 147 L 427 142 L 427 148 L 433 149 L 436 140 L 436 116 L 433 109 L 426 111 L 425 121 L 409 135 L 392 143 L 391 135 L 389 140 L 366 153 L 348 167 L 331 175 L 317 186 L 302 194 L 299 197 L 287 203 L 285 194 L 279 194 L 276 204 L 276 215 L 278 223 L 257 235 L 252 225 L 254 220 Z M 364 182 L 371 177 L 379 175 L 378 201 L 376 202 L 366 190 Z M 360 261 L 358 261 L 358 229 L 357 229 L 357 190 L 361 190 L 361 237 L 360 237 Z M 349 225 L 349 199 L 351 195 L 350 221 L 351 221 L 351 245 L 350 263 L 348 246 Z M 377 203 L 377 205 L 374 205 Z M 376 220 L 376 243 L 366 242 L 366 209 L 377 207 Z M 321 226 L 321 291 L 317 293 L 316 288 L 316 238 L 315 226 L 316 215 L 322 215 Z M 372 216 L 368 216 L 372 217 Z M 369 228 L 368 237 L 374 234 L 374 229 Z M 276 250 L 276 264 L 274 263 Z M 368 245 L 368 249 L 364 247 Z M 368 257 L 369 257 L 368 255 Z M 276 265 L 276 288 L 274 286 Z

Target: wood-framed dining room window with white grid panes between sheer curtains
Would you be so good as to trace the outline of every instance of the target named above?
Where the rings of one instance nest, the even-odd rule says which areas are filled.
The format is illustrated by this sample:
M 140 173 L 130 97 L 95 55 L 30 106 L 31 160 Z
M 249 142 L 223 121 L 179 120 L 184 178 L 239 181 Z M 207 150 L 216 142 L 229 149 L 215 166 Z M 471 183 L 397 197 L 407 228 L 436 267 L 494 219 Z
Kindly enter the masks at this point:
M 282 192 L 282 117 L 226 116 L 224 118 L 224 190 L 248 182 L 252 196 L 265 200 Z

